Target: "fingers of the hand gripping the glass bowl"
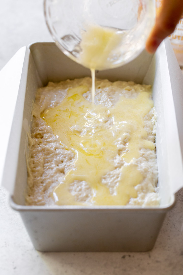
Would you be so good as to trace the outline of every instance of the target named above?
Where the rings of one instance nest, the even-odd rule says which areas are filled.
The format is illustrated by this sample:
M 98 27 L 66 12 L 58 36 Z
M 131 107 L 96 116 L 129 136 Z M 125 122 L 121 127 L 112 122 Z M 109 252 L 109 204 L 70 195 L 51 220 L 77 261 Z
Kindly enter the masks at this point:
M 146 41 L 148 53 L 154 53 L 160 43 L 170 35 L 183 13 L 183 0 L 162 0 L 155 25 Z

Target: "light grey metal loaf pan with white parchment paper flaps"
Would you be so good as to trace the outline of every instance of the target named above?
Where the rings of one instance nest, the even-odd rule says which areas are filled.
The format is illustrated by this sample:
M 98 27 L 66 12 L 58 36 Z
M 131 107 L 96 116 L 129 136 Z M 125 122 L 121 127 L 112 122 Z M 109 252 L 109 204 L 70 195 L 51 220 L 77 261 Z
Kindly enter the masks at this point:
M 90 76 L 90 71 L 66 57 L 54 43 L 33 43 L 22 51 L 24 63 L 5 161 L 3 184 L 11 186 L 10 205 L 20 212 L 35 249 L 39 251 L 152 249 L 165 214 L 174 205 L 174 193 L 181 188 L 183 182 L 182 144 L 172 93 L 174 80 L 171 79 L 169 72 L 171 67 L 172 74 L 175 71 L 179 73 L 179 67 L 170 43 L 163 42 L 154 56 L 144 51 L 123 67 L 96 73 L 96 77 L 111 81 L 132 80 L 140 84 L 153 85 L 153 99 L 158 116 L 156 146 L 161 195 L 160 207 L 156 208 L 25 205 L 26 131 L 29 131 L 35 92 L 48 81 L 57 82 L 68 78 Z M 174 93 L 178 92 L 179 86 L 182 85 L 181 81 L 182 79 L 179 84 L 174 85 Z M 177 99 L 177 104 L 179 102 Z

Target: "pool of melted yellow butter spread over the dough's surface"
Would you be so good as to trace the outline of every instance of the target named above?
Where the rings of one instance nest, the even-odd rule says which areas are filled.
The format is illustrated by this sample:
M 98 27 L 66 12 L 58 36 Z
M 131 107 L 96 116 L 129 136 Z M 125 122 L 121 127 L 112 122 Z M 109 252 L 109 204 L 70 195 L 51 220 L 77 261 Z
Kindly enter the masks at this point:
M 131 197 L 137 197 L 134 187 L 143 180 L 134 163 L 139 149 L 154 149 L 153 142 L 146 141 L 143 121 L 154 103 L 148 93 L 140 92 L 135 99 L 121 96 L 114 107 L 107 108 L 88 102 L 83 97 L 87 91 L 87 86 L 69 89 L 60 105 L 42 115 L 63 146 L 75 153 L 74 167 L 55 188 L 53 196 L 59 205 L 125 205 Z M 126 133 L 130 136 L 128 140 Z M 123 153 L 119 153 L 119 141 L 126 143 Z M 114 158 L 118 154 L 124 165 L 111 195 L 101 179 L 115 169 Z M 69 192 L 74 180 L 84 180 L 91 187 L 93 197 L 89 203 L 77 202 Z

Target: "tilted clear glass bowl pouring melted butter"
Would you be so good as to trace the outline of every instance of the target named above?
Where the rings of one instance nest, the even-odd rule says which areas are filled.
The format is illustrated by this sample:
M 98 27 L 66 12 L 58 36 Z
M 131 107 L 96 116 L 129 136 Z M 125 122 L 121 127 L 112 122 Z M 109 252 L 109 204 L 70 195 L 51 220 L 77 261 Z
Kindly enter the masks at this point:
M 153 0 L 45 0 L 44 12 L 60 50 L 95 70 L 138 56 L 155 18 Z

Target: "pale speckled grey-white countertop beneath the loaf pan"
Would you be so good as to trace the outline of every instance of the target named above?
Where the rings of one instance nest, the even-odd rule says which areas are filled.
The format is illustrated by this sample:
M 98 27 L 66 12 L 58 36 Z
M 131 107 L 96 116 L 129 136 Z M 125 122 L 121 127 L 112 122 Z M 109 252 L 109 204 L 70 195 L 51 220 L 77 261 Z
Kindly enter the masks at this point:
M 52 39 L 43 18 L 42 0 L 0 0 L 0 7 L 1 69 L 22 46 Z M 7 107 L 6 103 L 1 106 L 1 117 Z M 4 131 L 3 134 L 7 138 Z M 38 252 L 32 246 L 19 213 L 10 208 L 8 200 L 8 192 L 0 187 L 2 275 L 183 274 L 183 189 L 177 193 L 177 203 L 165 218 L 153 250 L 143 253 Z

